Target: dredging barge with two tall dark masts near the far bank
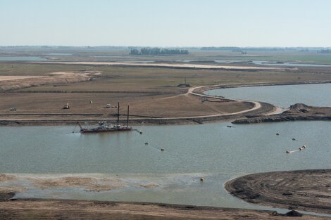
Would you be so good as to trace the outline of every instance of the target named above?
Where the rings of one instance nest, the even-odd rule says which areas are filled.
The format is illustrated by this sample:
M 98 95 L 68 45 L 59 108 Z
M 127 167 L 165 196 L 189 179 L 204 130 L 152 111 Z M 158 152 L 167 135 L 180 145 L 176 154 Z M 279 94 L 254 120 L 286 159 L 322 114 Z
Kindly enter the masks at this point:
M 81 134 L 89 134 L 89 133 L 103 133 L 103 132 L 116 132 L 116 131 L 132 131 L 132 127 L 129 127 L 129 105 L 127 105 L 127 125 L 122 126 L 119 124 L 120 122 L 120 103 L 117 105 L 118 113 L 117 113 L 117 124 L 108 124 L 106 121 L 99 122 L 93 127 L 89 127 L 88 125 L 82 127 L 80 122 L 77 122 L 80 127 Z

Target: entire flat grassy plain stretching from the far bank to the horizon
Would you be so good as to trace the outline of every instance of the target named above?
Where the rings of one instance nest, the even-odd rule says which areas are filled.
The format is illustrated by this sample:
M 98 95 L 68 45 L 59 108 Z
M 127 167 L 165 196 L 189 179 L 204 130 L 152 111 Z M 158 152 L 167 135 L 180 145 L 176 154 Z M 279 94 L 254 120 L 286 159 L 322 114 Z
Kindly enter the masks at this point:
M 177 60 L 195 60 L 196 63 L 216 65 L 213 60 L 281 60 L 306 63 L 327 63 L 328 54 L 316 51 L 249 51 L 242 55 L 231 51 L 190 50 L 189 56 L 128 56 L 123 48 L 67 48 L 13 50 L 0 48 L 0 56 L 40 56 L 63 61 L 154 61 L 173 63 Z M 61 56 L 54 56 L 55 53 Z M 68 54 L 68 56 L 63 56 Z M 331 61 L 330 61 L 331 62 Z M 221 64 L 224 65 L 224 64 Z M 225 64 L 233 65 L 233 64 Z M 236 65 L 247 65 L 237 63 Z M 251 65 L 251 64 L 250 64 Z M 130 103 L 133 115 L 151 117 L 186 117 L 237 112 L 250 108 L 239 102 L 201 102 L 201 98 L 186 96 L 187 88 L 177 85 L 186 80 L 191 86 L 213 84 L 251 84 L 285 82 L 320 82 L 331 80 L 331 67 L 282 67 L 275 70 L 213 70 L 174 67 L 137 67 L 126 65 L 82 65 L 0 62 L 0 76 L 51 76 L 52 72 L 101 72 L 85 82 L 45 82 L 0 93 L 0 118 L 22 118 L 19 114 L 101 114 L 111 115 L 104 105 L 120 101 Z M 90 104 L 93 101 L 93 104 Z M 70 110 L 62 110 L 69 103 Z M 10 108 L 17 108 L 11 112 Z M 32 117 L 32 116 L 30 116 Z M 55 117 L 52 115 L 51 117 Z M 61 118 L 64 116 L 61 115 Z

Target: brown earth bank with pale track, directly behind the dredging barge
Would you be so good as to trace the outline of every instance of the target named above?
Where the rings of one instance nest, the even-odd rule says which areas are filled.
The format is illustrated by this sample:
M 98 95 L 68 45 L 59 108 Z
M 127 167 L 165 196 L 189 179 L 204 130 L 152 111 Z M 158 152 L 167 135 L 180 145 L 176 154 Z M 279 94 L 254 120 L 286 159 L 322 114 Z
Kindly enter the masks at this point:
M 261 108 L 237 114 L 224 114 L 224 115 L 206 115 L 196 117 L 149 117 L 146 115 L 131 115 L 129 124 L 142 125 L 142 124 L 204 124 L 208 122 L 224 122 L 232 121 L 234 119 L 245 117 L 249 114 L 263 114 L 274 110 L 274 105 L 268 103 L 261 103 Z M 2 117 L 2 118 L 1 118 Z M 15 118 L 13 118 L 15 117 Z M 125 119 L 123 119 L 125 118 Z M 24 125 L 70 125 L 77 124 L 77 122 L 89 122 L 97 123 L 99 121 L 115 122 L 116 117 L 104 117 L 102 114 L 80 114 L 80 113 L 68 113 L 68 114 L 2 114 L 0 115 L 0 125 L 2 126 L 24 126 Z M 126 124 L 126 115 L 121 115 L 120 124 Z

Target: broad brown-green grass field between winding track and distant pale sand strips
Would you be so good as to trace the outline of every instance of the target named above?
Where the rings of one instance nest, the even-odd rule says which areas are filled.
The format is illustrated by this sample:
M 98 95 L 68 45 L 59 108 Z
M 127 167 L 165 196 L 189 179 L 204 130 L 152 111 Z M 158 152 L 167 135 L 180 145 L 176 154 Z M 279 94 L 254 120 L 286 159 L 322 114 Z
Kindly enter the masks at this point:
M 211 84 L 247 84 L 253 82 L 303 82 L 330 80 L 330 68 L 313 70 L 289 69 L 258 72 L 225 70 L 183 70 L 161 67 L 115 67 L 89 65 L 55 65 L 37 63 L 2 64 L 0 75 L 49 75 L 68 70 L 93 70 L 101 72 L 86 82 L 52 82 L 20 89 L 20 93 L 0 94 L 0 114 L 13 113 L 90 113 L 111 117 L 115 110 L 104 105 L 125 106 L 130 103 L 131 115 L 152 117 L 187 117 L 237 112 L 251 108 L 248 103 L 204 102 L 200 98 L 181 96 L 187 89 L 178 88 L 185 78 L 192 86 Z M 13 67 L 11 67 L 13 65 Z M 8 71 L 1 71 L 4 69 Z M 90 104 L 89 101 L 93 101 Z M 70 110 L 62 110 L 69 103 Z M 17 112 L 9 111 L 17 108 Z M 125 108 L 123 108 L 125 111 Z M 123 114 L 125 112 L 122 112 Z M 33 116 L 29 116 L 33 118 Z M 59 118 L 70 116 L 58 116 Z M 27 118 L 27 116 L 1 116 L 1 119 Z M 84 118 L 84 117 L 82 117 Z

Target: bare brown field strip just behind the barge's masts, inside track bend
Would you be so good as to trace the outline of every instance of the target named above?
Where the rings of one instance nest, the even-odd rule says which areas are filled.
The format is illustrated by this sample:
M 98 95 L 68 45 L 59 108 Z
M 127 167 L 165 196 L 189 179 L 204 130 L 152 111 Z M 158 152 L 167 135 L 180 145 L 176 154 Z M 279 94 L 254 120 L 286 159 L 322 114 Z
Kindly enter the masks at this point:
M 93 101 L 91 104 L 90 101 Z M 121 113 L 126 113 L 126 105 L 130 103 L 130 115 L 151 117 L 185 117 L 200 115 L 215 115 L 222 112 L 237 112 L 251 108 L 249 103 L 240 102 L 201 102 L 195 96 L 151 96 L 149 94 L 125 93 L 0 93 L 0 114 L 23 113 L 89 113 L 102 114 L 111 117 L 116 109 L 106 109 L 121 103 Z M 70 104 L 69 110 L 63 110 L 65 103 Z M 11 112 L 10 108 L 17 108 Z M 22 117 L 27 117 L 22 116 Z M 32 117 L 32 116 L 29 116 Z M 39 116 L 36 116 L 39 117 Z M 132 116 L 133 117 L 133 116 Z M 4 119 L 4 116 L 1 116 Z

